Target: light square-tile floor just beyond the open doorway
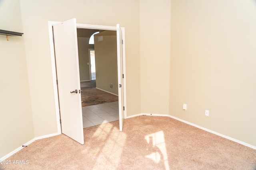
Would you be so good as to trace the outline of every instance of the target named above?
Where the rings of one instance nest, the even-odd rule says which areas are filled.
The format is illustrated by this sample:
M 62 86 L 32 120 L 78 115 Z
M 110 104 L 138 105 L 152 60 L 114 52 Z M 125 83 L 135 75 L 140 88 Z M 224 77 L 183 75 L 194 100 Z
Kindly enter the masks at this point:
M 84 128 L 118 120 L 118 101 L 82 107 L 82 114 Z

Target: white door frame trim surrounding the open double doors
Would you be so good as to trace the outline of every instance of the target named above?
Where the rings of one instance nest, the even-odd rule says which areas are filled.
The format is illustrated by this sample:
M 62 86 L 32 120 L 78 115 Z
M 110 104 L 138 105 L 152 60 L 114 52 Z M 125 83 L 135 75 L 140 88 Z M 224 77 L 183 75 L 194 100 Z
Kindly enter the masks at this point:
M 55 54 L 54 54 L 54 39 L 53 39 L 53 31 L 52 31 L 52 25 L 55 25 L 57 23 L 60 23 L 60 21 L 48 21 L 48 31 L 49 31 L 49 40 L 50 40 L 50 55 L 51 55 L 51 63 L 52 63 L 52 80 L 53 80 L 53 90 L 54 90 L 54 102 L 55 102 L 55 112 L 56 112 L 56 123 L 57 123 L 57 131 L 58 134 L 61 134 L 61 124 L 60 124 L 60 108 L 59 108 L 59 100 L 58 100 L 58 88 L 57 88 L 57 78 L 56 78 L 56 63 L 55 63 Z M 83 23 L 76 23 L 76 28 L 82 28 L 82 29 L 102 29 L 102 30 L 110 30 L 110 31 L 116 31 L 116 26 L 106 26 L 106 25 L 90 25 L 90 24 L 83 24 Z M 124 27 L 121 27 L 122 29 L 122 40 L 123 40 L 123 46 L 122 46 L 122 58 L 123 58 L 123 74 L 125 75 L 123 78 L 123 90 L 124 90 L 124 107 L 126 108 L 124 110 L 124 119 L 126 119 L 126 63 L 125 63 L 125 29 Z M 118 94 L 119 95 L 119 94 Z M 118 100 L 118 102 L 120 102 Z

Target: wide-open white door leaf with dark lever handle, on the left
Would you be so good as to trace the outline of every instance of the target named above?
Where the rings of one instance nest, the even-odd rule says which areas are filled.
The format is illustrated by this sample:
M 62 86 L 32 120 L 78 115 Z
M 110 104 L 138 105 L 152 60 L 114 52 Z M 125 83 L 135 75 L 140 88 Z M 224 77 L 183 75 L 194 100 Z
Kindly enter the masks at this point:
M 62 133 L 84 144 L 76 19 L 53 25 Z

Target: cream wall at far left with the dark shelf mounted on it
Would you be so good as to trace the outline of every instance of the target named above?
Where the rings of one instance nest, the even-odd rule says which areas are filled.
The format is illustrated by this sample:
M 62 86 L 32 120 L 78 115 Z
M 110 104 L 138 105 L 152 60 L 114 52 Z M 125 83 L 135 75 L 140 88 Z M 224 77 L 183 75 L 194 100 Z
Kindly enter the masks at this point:
M 0 29 L 23 32 L 18 0 L 0 1 Z M 34 139 L 25 36 L 0 35 L 0 158 Z

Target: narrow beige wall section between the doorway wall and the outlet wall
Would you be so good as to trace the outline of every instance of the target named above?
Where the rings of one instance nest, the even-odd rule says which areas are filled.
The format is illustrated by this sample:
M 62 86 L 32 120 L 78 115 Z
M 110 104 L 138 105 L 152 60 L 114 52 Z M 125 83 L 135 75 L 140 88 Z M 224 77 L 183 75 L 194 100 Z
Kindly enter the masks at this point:
M 140 0 L 141 113 L 169 113 L 169 65 L 170 0 Z

